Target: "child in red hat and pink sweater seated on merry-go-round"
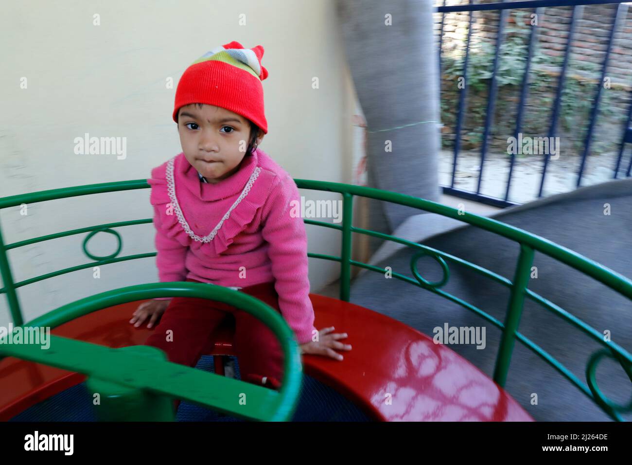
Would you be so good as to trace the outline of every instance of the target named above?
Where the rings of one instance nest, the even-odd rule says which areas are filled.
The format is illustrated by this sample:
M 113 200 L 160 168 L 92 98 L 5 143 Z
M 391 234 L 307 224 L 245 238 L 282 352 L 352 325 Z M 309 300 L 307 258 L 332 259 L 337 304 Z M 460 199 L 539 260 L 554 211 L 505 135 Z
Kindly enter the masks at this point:
M 253 295 L 283 315 L 303 354 L 342 360 L 336 350 L 351 350 L 339 342 L 346 333 L 313 326 L 305 225 L 290 214 L 298 189 L 257 147 L 267 133 L 263 55 L 262 46 L 230 42 L 195 61 L 178 83 L 173 120 L 183 152 L 154 168 L 148 180 L 159 278 Z M 151 328 L 159 321 L 145 344 L 164 350 L 169 361 L 195 366 L 229 313 L 241 379 L 278 388 L 281 346 L 243 310 L 207 299 L 154 299 L 140 305 L 130 323 L 138 327 L 149 318 Z

